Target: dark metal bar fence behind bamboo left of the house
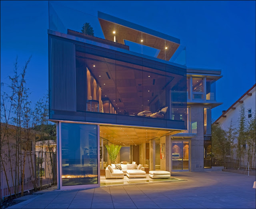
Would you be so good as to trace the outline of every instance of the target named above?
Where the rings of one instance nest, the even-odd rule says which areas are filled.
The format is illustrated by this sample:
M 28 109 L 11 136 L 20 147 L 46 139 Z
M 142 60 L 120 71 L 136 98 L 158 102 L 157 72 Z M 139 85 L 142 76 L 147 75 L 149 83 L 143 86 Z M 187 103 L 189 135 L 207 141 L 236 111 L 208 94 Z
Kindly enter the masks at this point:
M 23 169 L 24 191 L 57 183 L 56 153 L 27 152 L 25 164 L 24 157 L 24 152 L 17 157 L 14 152 L 1 152 L 1 198 L 21 192 Z

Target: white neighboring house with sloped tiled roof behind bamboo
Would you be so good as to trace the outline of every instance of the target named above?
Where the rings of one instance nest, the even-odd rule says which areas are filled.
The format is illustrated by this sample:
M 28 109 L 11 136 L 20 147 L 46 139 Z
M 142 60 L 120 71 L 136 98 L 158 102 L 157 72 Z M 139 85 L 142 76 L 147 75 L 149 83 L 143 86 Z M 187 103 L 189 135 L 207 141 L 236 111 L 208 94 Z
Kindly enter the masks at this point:
M 227 110 L 222 110 L 222 114 L 220 117 L 214 121 L 214 124 L 220 124 L 223 130 L 228 130 L 230 127 L 230 123 L 232 122 L 233 128 L 238 129 L 239 126 L 239 118 L 240 118 L 240 110 L 241 106 L 244 106 L 245 109 L 245 118 L 246 121 L 250 120 L 255 115 L 255 108 L 256 108 L 256 97 L 255 97 L 255 89 L 256 84 L 254 84 L 248 91 L 246 91 L 234 104 L 232 104 Z M 234 144 L 237 144 L 237 139 L 235 138 Z M 244 145 L 246 148 L 246 144 Z M 233 152 L 233 156 L 231 158 L 236 159 L 236 153 Z M 255 149 L 254 149 L 254 156 L 255 156 Z M 247 157 L 245 156 L 242 159 L 242 167 L 246 167 L 248 164 Z M 254 167 L 255 167 L 255 160 L 254 160 Z

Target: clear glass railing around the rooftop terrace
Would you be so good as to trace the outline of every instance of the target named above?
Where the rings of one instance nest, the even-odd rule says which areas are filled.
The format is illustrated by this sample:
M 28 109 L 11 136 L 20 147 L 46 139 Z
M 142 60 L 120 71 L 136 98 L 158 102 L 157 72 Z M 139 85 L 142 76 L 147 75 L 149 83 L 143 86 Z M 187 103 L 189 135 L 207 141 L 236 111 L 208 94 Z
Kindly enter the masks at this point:
M 86 5 L 86 2 L 81 4 Z M 91 14 L 87 14 L 66 5 L 68 5 L 68 2 L 65 1 L 49 2 L 50 30 L 73 35 L 78 38 L 86 38 L 92 41 L 106 43 L 112 45 L 112 47 L 127 49 L 156 59 L 186 65 L 186 47 L 184 45 L 159 38 L 160 45 L 162 44 L 162 46 L 158 44 L 157 47 L 154 47 L 154 45 L 150 43 L 150 38 L 155 39 L 155 35 L 140 32 L 135 29 L 134 32 L 138 33 L 136 37 L 140 37 L 141 34 L 141 38 L 139 38 L 139 40 L 137 40 L 138 38 L 136 40 L 127 40 L 128 37 L 131 38 L 131 36 L 128 30 L 123 30 L 124 28 L 127 29 L 126 26 L 99 19 L 98 16 L 96 16 L 98 11 L 94 8 L 90 8 L 89 12 Z M 128 17 L 126 19 L 128 19 Z M 125 31 L 127 34 L 124 34 L 122 31 Z M 102 46 L 104 47 L 104 45 Z

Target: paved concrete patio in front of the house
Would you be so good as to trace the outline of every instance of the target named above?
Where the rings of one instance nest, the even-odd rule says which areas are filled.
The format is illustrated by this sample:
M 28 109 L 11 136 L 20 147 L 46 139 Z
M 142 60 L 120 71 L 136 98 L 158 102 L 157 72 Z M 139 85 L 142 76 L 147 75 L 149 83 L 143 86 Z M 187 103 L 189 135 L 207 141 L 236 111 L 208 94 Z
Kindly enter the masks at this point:
M 172 176 L 187 181 L 43 190 L 8 208 L 256 208 L 255 176 L 228 172 L 172 172 Z

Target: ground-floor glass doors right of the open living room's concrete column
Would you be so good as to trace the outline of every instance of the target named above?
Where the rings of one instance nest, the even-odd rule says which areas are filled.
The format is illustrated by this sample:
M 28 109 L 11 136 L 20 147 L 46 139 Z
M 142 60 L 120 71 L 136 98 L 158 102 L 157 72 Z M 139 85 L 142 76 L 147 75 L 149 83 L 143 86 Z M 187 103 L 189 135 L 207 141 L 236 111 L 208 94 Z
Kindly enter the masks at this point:
M 189 142 L 172 141 L 172 170 L 189 169 Z

